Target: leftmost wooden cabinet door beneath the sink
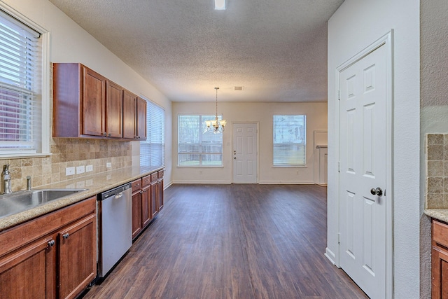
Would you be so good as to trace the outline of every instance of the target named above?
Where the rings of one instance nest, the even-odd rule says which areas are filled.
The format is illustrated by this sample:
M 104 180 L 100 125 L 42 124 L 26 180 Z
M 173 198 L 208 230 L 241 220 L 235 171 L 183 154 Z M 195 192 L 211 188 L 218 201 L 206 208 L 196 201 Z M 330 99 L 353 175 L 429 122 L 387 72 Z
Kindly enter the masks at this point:
M 56 298 L 55 241 L 39 239 L 0 259 L 0 298 Z

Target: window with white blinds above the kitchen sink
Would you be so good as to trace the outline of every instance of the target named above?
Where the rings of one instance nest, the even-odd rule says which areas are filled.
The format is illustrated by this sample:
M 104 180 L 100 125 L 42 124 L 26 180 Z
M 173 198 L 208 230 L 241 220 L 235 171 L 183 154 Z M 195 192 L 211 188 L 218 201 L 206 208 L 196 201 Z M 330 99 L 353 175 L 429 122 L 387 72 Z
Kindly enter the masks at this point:
M 0 11 L 0 156 L 41 152 L 39 37 Z

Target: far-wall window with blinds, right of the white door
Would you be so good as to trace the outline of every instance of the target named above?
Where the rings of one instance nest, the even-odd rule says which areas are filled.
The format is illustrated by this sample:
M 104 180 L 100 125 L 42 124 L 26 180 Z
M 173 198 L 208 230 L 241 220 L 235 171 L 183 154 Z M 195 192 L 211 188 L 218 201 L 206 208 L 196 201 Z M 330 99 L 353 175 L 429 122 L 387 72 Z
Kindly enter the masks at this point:
M 274 116 L 273 124 L 274 166 L 306 165 L 306 116 Z

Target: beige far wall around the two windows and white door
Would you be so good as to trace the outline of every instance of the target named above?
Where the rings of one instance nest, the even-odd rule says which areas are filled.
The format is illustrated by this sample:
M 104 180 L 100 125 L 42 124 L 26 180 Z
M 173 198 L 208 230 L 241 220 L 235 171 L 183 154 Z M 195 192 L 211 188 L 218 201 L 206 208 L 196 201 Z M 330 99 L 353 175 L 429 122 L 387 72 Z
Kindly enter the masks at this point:
M 218 102 L 218 113 L 228 121 L 223 133 L 223 167 L 176 167 L 177 116 L 179 113 L 215 114 L 214 102 L 173 103 L 173 181 L 174 183 L 232 182 L 232 122 L 259 123 L 259 183 L 314 183 L 313 131 L 326 130 L 326 103 L 235 103 Z M 272 116 L 307 115 L 307 167 L 272 166 Z

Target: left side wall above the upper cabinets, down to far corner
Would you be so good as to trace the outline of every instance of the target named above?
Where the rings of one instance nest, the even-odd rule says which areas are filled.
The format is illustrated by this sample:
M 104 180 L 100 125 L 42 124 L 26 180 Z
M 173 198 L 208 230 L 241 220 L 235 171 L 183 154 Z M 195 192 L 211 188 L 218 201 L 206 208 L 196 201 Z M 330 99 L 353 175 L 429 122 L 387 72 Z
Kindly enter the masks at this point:
M 47 0 L 1 0 L 26 18 L 50 32 L 50 62 L 80 62 L 136 95 L 144 95 L 165 108 L 165 140 L 172 140 L 171 102 L 116 55 L 85 32 Z M 138 144 L 133 143 L 133 147 Z M 166 157 L 171 157 L 168 142 Z M 165 179 L 171 182 L 171 160 L 166 160 Z

